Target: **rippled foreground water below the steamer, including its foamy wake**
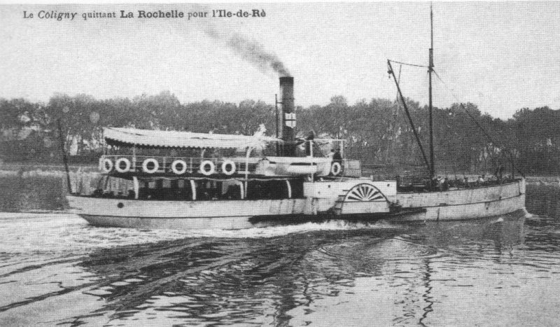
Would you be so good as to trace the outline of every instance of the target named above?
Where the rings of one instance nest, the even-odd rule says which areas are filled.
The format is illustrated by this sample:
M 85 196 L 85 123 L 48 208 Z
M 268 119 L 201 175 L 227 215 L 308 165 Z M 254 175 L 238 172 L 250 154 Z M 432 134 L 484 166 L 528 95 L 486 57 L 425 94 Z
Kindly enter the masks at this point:
M 6 216 L 0 326 L 555 326 L 558 194 L 539 190 L 527 204 L 540 216 L 367 228 L 193 234 Z

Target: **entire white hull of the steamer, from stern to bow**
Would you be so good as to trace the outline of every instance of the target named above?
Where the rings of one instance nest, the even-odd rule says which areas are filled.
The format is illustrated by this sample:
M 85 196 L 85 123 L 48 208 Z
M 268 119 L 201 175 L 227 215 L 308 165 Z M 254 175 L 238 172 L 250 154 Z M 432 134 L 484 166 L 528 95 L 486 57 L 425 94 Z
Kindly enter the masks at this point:
M 335 193 L 333 193 L 335 194 Z M 92 225 L 126 228 L 241 229 L 266 221 L 320 218 L 386 218 L 391 221 L 454 221 L 512 214 L 525 209 L 525 181 L 430 193 L 397 193 L 388 202 L 344 202 L 339 197 L 284 200 L 160 201 L 69 195 L 74 212 Z M 339 208 L 337 211 L 336 209 Z

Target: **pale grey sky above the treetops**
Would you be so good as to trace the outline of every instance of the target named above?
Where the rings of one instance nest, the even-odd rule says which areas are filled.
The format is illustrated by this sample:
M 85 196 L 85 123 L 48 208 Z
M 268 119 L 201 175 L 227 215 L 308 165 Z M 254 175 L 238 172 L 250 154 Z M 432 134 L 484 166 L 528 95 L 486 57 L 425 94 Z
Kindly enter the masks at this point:
M 264 10 L 265 17 L 209 17 L 220 9 Z M 134 18 L 118 18 L 121 10 Z M 208 14 L 137 18 L 138 11 L 170 10 Z M 38 18 L 40 11 L 78 14 L 59 21 Z M 117 18 L 83 19 L 93 12 Z M 435 106 L 472 102 L 503 119 L 524 107 L 560 109 L 560 2 L 436 1 L 433 13 L 435 71 L 443 81 L 433 76 Z M 295 78 L 296 105 L 325 105 L 337 95 L 353 104 L 395 99 L 387 59 L 428 64 L 430 4 L 3 5 L 0 44 L 0 97 L 8 99 L 169 90 L 181 102 L 273 104 L 279 74 L 262 60 L 278 60 Z M 427 69 L 393 69 L 405 97 L 427 104 Z

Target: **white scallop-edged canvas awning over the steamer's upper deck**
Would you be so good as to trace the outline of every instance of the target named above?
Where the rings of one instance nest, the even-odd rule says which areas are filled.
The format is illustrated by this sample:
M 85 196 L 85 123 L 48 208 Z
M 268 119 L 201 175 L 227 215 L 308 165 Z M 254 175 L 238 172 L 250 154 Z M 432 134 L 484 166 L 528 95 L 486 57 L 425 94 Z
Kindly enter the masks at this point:
M 206 134 L 161 130 L 137 130 L 135 128 L 105 127 L 104 138 L 108 144 L 130 144 L 170 148 L 262 148 L 275 137 L 233 134 Z

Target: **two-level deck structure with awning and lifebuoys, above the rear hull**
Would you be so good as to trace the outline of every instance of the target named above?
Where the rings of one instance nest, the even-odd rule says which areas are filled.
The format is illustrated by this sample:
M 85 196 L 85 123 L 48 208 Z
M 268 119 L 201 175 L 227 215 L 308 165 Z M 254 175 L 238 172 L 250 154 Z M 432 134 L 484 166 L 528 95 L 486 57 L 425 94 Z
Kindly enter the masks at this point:
M 300 141 L 299 157 L 276 155 L 281 139 L 106 127 L 94 196 L 137 200 L 304 197 L 303 182 L 360 176 L 358 160 L 332 160 L 342 140 Z M 306 144 L 305 142 L 308 142 Z M 343 152 L 342 152 L 343 153 Z

